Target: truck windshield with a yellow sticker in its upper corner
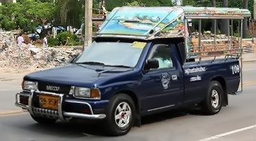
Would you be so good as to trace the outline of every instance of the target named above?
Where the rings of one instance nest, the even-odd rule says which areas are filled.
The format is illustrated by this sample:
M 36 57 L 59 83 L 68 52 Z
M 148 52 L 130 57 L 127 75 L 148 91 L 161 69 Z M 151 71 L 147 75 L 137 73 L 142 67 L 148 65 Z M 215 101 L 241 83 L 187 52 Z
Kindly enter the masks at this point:
M 104 64 L 109 66 L 129 66 L 138 63 L 145 42 L 96 42 L 84 50 L 74 63 Z

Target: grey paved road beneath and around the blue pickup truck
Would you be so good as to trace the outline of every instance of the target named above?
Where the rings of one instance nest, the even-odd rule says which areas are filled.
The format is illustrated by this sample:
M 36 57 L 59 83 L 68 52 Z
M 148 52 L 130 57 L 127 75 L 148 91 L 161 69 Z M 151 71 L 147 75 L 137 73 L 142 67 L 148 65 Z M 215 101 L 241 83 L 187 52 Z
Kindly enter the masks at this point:
M 100 125 L 57 122 L 51 126 L 36 124 L 29 114 L 16 112 L 14 94 L 20 82 L 0 82 L 0 137 L 12 141 L 255 141 L 256 140 L 256 66 L 244 64 L 244 93 L 229 96 L 228 107 L 217 115 L 198 115 L 197 111 L 164 112 L 143 118 L 141 128 L 133 128 L 124 137 L 104 137 Z M 12 112 L 13 113 L 10 113 Z

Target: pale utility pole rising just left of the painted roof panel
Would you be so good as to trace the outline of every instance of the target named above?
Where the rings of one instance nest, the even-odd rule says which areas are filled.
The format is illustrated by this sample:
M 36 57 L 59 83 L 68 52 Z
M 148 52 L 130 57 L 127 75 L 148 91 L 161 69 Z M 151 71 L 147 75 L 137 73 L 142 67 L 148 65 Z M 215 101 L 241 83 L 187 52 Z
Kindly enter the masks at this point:
M 84 47 L 88 47 L 92 43 L 92 1 L 93 0 L 85 0 L 85 13 L 84 13 Z

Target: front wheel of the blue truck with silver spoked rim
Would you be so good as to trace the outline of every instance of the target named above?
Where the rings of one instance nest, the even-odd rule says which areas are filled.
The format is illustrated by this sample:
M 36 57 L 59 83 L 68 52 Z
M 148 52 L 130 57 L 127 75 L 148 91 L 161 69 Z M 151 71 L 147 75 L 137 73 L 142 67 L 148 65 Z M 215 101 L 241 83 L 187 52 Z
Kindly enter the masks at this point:
M 123 109 L 124 105 L 127 105 L 126 109 Z M 108 132 L 108 135 L 126 135 L 131 130 L 136 119 L 136 108 L 134 105 L 134 101 L 127 94 L 116 94 L 109 101 L 106 115 L 107 117 L 104 121 L 104 124 L 105 130 Z M 128 122 L 125 124 L 125 121 Z

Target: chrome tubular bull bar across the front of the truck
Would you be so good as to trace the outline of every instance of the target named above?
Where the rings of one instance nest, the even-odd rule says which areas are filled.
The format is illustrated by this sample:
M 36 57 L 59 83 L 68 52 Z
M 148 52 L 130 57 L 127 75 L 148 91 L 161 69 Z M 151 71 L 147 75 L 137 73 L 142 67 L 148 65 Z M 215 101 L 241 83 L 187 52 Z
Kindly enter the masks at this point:
M 38 93 L 38 92 L 36 92 Z M 15 96 L 15 105 L 17 107 L 23 108 L 24 110 L 28 110 L 29 114 L 42 116 L 42 117 L 49 117 L 54 119 L 60 119 L 61 121 L 68 121 L 72 117 L 82 118 L 82 119 L 104 119 L 106 114 L 93 114 L 92 105 L 90 103 L 84 101 L 75 101 L 75 100 L 66 100 L 64 94 L 56 94 L 56 93 L 49 93 L 49 92 L 39 92 L 44 94 L 49 94 L 51 96 L 58 96 L 58 110 L 49 110 L 45 108 L 35 107 L 33 105 L 34 97 L 36 96 L 35 91 L 30 91 L 30 93 L 17 93 Z M 27 96 L 28 97 L 28 105 L 20 103 L 20 96 Z M 63 111 L 63 103 L 72 103 L 72 104 L 80 104 L 86 105 L 89 107 L 90 114 L 83 114 L 78 112 L 65 112 Z

